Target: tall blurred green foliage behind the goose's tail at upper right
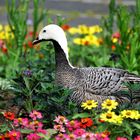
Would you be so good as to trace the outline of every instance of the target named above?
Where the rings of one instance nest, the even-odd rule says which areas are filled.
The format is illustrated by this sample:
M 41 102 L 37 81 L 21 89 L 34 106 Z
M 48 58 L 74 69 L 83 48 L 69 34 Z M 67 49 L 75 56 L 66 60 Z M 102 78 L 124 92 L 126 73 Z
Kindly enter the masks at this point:
M 115 0 L 111 0 L 109 7 L 109 16 L 103 20 L 105 45 L 112 46 L 113 53 L 119 56 L 115 65 L 139 73 L 140 43 L 139 31 L 137 30 L 139 26 L 139 14 L 137 14 L 140 8 L 139 1 L 136 0 L 136 8 L 133 10 L 124 5 L 116 6 Z M 113 36 L 114 25 L 120 34 L 118 37 Z M 113 41 L 113 38 L 116 38 L 117 41 Z

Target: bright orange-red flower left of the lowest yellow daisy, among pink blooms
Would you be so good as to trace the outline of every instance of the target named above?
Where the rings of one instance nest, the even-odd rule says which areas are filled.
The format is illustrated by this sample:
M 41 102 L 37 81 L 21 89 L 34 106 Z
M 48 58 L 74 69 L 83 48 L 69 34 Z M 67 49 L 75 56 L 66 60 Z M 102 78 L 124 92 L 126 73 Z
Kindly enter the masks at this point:
M 93 121 L 91 118 L 82 118 L 81 119 L 81 127 L 82 128 L 86 128 L 86 127 L 90 127 L 93 125 Z

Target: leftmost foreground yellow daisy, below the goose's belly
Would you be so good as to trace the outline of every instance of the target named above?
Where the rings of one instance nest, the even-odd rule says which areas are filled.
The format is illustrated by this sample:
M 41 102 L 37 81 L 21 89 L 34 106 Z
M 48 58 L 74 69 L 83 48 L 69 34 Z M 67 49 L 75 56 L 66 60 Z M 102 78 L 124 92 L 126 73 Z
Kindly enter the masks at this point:
M 97 107 L 97 102 L 94 100 L 87 100 L 86 102 L 83 102 L 81 105 L 82 108 L 91 110 L 92 108 Z

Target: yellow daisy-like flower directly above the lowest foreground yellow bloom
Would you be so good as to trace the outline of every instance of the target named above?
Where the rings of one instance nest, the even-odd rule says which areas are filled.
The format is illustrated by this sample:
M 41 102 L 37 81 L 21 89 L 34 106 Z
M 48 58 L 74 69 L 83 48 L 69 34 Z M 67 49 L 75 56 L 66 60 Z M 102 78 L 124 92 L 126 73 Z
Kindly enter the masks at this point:
M 117 105 L 118 103 L 115 100 L 107 99 L 102 103 L 102 109 L 108 110 L 116 109 Z

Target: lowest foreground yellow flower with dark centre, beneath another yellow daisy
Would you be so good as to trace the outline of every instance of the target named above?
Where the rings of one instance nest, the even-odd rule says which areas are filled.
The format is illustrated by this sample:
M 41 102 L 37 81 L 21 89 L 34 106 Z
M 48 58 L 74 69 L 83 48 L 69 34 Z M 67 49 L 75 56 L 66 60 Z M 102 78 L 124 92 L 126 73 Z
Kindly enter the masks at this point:
M 106 122 L 111 123 L 120 123 L 121 118 L 115 114 L 115 112 L 108 111 L 106 113 L 102 113 L 100 118 Z

